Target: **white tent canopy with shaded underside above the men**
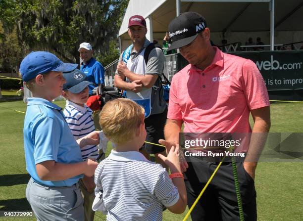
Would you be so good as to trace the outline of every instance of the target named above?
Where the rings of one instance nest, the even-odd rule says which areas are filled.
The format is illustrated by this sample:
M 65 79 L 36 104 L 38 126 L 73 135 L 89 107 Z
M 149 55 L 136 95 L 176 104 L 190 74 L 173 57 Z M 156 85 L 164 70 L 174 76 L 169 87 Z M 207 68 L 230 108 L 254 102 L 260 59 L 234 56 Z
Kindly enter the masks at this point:
M 161 40 L 168 24 L 176 17 L 176 4 L 180 13 L 196 11 L 202 14 L 212 33 L 211 39 L 220 44 L 246 41 L 248 37 L 261 37 L 265 44 L 273 41 L 271 29 L 271 2 L 274 2 L 275 43 L 303 41 L 303 0 L 130 0 L 120 31 L 121 48 L 130 44 L 127 34 L 128 19 L 140 14 L 147 19 L 148 39 Z

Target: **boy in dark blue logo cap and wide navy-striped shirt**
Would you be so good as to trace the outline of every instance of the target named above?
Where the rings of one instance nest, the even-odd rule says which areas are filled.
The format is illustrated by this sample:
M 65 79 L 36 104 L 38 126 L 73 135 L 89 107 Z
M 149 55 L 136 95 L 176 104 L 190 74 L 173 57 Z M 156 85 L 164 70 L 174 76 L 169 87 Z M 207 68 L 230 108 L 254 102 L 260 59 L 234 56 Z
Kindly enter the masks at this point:
M 66 83 L 63 85 L 62 95 L 67 99 L 63 114 L 75 139 L 79 139 L 96 130 L 92 118 L 93 111 L 85 104 L 89 97 L 88 86 L 92 83 L 85 81 L 86 75 L 78 69 L 72 73 L 63 74 L 63 77 Z M 81 155 L 83 160 L 96 159 L 99 155 L 98 148 L 96 145 L 84 146 L 81 148 Z M 95 198 L 94 188 L 93 177 L 84 176 L 80 179 L 85 221 L 94 220 L 95 212 L 92 210 Z

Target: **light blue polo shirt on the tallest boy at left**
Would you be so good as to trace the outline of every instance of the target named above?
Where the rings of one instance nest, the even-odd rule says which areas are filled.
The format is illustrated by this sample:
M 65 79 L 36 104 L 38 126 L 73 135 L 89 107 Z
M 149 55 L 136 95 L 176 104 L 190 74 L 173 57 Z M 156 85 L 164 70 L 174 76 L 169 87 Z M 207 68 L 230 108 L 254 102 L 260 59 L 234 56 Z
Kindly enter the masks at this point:
M 78 175 L 60 181 L 45 181 L 37 175 L 36 164 L 44 161 L 65 164 L 83 161 L 80 147 L 61 107 L 43 98 L 28 98 L 23 133 L 26 170 L 36 182 L 47 186 L 71 186 L 83 177 Z

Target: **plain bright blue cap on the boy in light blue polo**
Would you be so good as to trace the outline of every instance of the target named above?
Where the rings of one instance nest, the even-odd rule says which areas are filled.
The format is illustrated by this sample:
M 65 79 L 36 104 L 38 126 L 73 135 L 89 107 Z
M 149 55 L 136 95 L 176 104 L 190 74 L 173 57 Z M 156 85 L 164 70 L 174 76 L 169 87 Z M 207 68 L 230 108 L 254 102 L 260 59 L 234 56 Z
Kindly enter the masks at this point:
M 78 67 L 78 64 L 63 63 L 54 54 L 47 51 L 33 51 L 29 53 L 20 64 L 22 80 L 27 82 L 36 78 L 39 74 L 50 71 L 71 72 Z

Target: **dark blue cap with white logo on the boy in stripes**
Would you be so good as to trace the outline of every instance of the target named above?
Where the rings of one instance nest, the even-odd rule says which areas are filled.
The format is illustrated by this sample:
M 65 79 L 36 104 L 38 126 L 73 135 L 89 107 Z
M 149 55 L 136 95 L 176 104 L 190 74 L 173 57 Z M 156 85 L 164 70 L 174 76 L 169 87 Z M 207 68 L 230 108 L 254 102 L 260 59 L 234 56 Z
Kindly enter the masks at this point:
M 63 74 L 66 83 L 63 85 L 63 90 L 69 90 L 72 93 L 80 93 L 87 86 L 93 84 L 91 82 L 85 81 L 86 74 L 84 74 L 79 69 L 76 69 L 70 73 Z

